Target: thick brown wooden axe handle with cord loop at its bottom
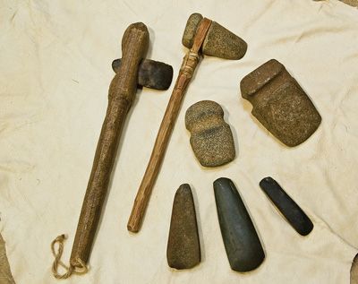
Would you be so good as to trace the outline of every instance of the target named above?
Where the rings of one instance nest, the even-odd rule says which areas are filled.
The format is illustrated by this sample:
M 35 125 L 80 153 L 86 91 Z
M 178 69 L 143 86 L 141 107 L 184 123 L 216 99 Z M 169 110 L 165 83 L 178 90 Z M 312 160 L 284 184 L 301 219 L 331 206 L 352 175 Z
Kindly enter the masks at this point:
M 55 255 L 53 273 L 57 279 L 68 278 L 72 273 L 87 272 L 90 249 L 106 198 L 118 141 L 137 90 L 140 64 L 147 53 L 148 46 L 149 31 L 143 23 L 133 23 L 125 30 L 122 39 L 122 63 L 109 86 L 107 114 L 102 125 L 90 180 L 82 203 L 69 266 L 60 260 L 63 253 L 64 235 L 56 237 L 51 245 Z M 156 85 L 158 78 L 153 78 L 153 80 L 151 85 Z M 59 245 L 57 253 L 55 244 Z M 58 266 L 62 266 L 66 272 L 59 274 Z

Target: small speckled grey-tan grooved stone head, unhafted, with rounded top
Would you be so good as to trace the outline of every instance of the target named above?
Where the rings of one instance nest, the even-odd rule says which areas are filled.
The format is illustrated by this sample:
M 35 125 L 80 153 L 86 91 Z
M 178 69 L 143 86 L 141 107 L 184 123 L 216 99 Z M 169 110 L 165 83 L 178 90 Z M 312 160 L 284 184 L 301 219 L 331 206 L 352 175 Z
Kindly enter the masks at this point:
M 191 132 L 192 151 L 204 167 L 217 167 L 234 159 L 234 139 L 217 102 L 201 100 L 188 108 L 185 126 Z

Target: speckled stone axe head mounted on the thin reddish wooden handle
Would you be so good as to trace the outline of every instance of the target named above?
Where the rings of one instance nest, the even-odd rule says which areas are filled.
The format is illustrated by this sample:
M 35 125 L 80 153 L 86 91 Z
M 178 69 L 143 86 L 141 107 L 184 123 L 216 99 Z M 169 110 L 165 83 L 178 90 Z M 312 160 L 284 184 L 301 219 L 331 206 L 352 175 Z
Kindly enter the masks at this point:
M 200 13 L 192 13 L 186 22 L 183 33 L 183 46 L 192 48 L 194 36 L 197 33 L 198 27 L 203 17 Z M 217 56 L 226 59 L 240 59 L 247 50 L 246 42 L 226 30 L 217 22 L 211 22 L 207 35 L 202 43 L 201 52 L 207 56 Z

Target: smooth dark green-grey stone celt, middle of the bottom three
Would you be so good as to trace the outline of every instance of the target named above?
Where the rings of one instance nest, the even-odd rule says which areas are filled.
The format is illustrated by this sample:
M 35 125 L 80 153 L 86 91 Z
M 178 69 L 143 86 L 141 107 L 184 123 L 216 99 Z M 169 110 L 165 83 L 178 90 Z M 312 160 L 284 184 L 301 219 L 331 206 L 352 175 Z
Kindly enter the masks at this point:
M 260 266 L 265 253 L 250 215 L 234 183 L 225 177 L 214 182 L 217 217 L 227 258 L 233 271 L 252 271 Z

